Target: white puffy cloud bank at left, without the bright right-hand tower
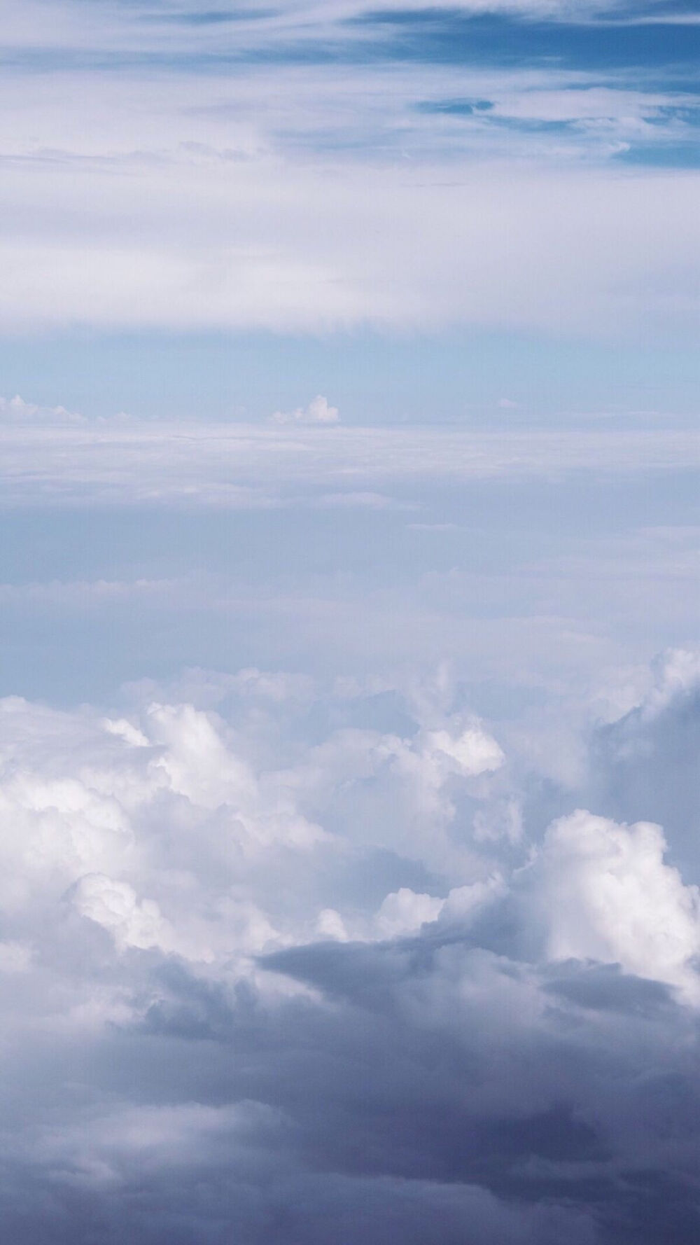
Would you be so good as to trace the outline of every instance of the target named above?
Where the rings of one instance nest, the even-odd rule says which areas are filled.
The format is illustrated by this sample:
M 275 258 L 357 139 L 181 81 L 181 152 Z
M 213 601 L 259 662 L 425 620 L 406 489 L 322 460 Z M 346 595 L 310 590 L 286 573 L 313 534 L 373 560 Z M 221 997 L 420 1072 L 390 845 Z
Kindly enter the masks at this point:
M 309 688 L 299 700 L 294 679 L 242 671 L 229 684 L 242 703 L 262 688 L 273 733 L 288 697 L 286 708 L 306 712 Z M 257 736 L 264 726 L 258 720 Z M 450 844 L 455 792 L 503 763 L 496 741 L 460 720 L 414 740 L 335 731 L 320 745 L 293 743 L 291 767 L 280 758 L 270 768 L 272 756 L 264 737 L 247 738 L 193 705 L 147 698 L 128 717 L 103 717 L 1 701 L 2 899 L 17 945 L 40 911 L 60 920 L 64 896 L 122 951 L 198 962 L 304 940 L 316 919 L 333 936 L 419 929 L 437 916 L 440 898 L 399 886 L 357 924 L 351 911 L 323 915 L 321 886 L 315 913 L 293 903 L 280 924 L 275 888 L 295 854 L 306 858 L 309 881 L 319 852 L 340 868 L 349 848 L 467 864 L 468 853 Z M 260 869 L 268 880 L 258 891 Z

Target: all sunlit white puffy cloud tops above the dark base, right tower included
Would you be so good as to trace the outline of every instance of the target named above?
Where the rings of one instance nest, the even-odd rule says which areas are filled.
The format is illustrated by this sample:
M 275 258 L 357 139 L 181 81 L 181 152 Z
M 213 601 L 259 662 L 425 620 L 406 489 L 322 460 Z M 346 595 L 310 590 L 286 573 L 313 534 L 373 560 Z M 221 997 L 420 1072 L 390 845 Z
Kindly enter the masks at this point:
M 532 849 L 508 794 L 503 751 L 478 722 L 442 716 L 438 725 L 436 702 L 426 701 L 426 725 L 411 738 L 341 728 L 320 743 L 291 735 L 280 753 L 281 741 L 270 751 L 264 732 L 275 737 L 283 711 L 308 713 L 311 688 L 304 685 L 299 698 L 293 679 L 259 671 L 229 684 L 242 712 L 262 688 L 268 716 L 257 717 L 254 736 L 193 705 L 148 698 L 128 717 L 1 702 L 9 967 L 16 956 L 29 966 L 12 949 L 34 940 L 40 911 L 59 920 L 65 895 L 122 950 L 154 947 L 223 966 L 314 936 L 395 937 L 438 918 L 463 924 L 512 886 L 526 941 L 539 929 L 549 959 L 619 962 L 693 991 L 698 894 L 664 860 L 659 827 L 577 812 Z M 345 908 L 329 903 L 329 862 L 341 868 L 348 852 L 377 849 L 450 885 L 440 893 L 400 884 L 379 905 L 359 895 Z M 508 880 L 507 859 L 528 850 L 533 860 Z M 294 857 L 314 896 L 310 910 L 278 906 Z

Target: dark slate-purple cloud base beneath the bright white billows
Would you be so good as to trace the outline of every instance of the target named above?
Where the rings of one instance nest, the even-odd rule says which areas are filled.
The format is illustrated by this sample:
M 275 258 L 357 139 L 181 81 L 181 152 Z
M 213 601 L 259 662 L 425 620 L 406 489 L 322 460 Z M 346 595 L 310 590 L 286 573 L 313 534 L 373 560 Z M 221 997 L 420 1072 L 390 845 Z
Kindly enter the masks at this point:
M 10 1238 L 696 1241 L 694 1017 L 619 970 L 538 972 L 470 942 L 280 952 L 267 966 L 320 997 L 275 1007 L 249 986 L 229 995 L 152 964 L 142 1021 L 55 1052 L 55 1093 L 78 1072 L 107 1112 L 128 1091 L 148 1109 L 235 1103 L 243 1127 L 140 1154 L 59 1106 L 110 1175 L 70 1155 L 44 1170 L 9 1164 Z

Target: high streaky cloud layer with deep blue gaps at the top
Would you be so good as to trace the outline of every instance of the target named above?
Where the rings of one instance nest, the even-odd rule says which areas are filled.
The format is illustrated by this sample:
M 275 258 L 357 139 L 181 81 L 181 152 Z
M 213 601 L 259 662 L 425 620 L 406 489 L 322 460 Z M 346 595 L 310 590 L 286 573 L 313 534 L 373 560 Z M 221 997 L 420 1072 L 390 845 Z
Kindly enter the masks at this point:
M 691 15 L 362 10 L 10 5 L 2 330 L 695 339 Z

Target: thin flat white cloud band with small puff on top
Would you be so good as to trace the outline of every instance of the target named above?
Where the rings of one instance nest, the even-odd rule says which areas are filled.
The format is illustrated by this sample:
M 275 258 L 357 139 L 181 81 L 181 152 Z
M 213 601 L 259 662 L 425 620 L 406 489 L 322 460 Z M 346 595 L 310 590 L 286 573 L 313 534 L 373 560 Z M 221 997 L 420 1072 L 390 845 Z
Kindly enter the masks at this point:
M 4 507 L 204 505 L 259 509 L 401 497 L 483 479 L 693 472 L 694 430 L 338 427 L 325 397 L 268 426 L 85 420 L 21 398 L 0 403 Z M 324 436 L 319 432 L 328 430 Z M 333 489 L 333 492 L 329 492 Z M 412 498 L 411 498 L 412 502 Z

